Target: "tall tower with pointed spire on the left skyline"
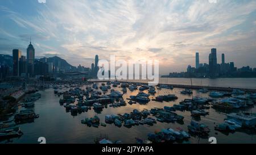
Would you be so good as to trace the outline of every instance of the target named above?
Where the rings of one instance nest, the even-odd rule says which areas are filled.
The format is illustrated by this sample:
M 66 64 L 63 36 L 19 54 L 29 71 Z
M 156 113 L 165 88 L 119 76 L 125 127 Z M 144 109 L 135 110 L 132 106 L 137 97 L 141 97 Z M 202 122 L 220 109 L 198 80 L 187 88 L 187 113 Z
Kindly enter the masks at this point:
M 34 76 L 34 64 L 35 63 L 35 48 L 31 44 L 27 47 L 27 73 L 29 77 Z

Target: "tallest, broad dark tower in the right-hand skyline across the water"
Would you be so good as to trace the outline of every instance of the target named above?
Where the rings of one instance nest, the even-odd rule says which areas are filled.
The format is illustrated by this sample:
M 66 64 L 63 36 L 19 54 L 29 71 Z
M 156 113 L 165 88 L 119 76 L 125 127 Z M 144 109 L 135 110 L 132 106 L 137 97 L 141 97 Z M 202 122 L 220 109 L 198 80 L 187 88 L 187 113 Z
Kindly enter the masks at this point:
M 212 48 L 209 55 L 209 72 L 212 76 L 217 73 L 217 49 Z

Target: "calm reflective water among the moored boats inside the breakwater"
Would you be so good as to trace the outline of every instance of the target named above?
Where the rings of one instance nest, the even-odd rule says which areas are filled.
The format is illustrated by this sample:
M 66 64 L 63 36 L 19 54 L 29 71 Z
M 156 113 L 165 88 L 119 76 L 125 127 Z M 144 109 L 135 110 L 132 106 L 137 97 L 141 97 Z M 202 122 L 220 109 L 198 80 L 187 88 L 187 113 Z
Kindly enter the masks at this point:
M 100 86 L 101 83 L 97 83 Z M 85 86 L 82 87 L 85 89 Z M 121 91 L 119 87 L 112 87 L 112 89 Z M 53 89 L 46 89 L 39 91 L 42 97 L 36 100 L 34 111 L 39 114 L 39 118 L 35 119 L 32 123 L 20 124 L 19 127 L 24 133 L 19 138 L 11 139 L 10 141 L 1 141 L 0 143 L 39 143 L 39 137 L 45 137 L 46 143 L 94 143 L 94 139 L 101 135 L 107 135 L 112 141 L 121 140 L 122 143 L 135 143 L 135 137 L 140 139 L 147 139 L 148 133 L 154 133 L 163 128 L 173 128 L 177 127 L 183 128 L 188 131 L 188 124 L 190 124 L 191 112 L 189 111 L 176 111 L 177 114 L 184 116 L 184 124 L 179 123 L 160 123 L 157 122 L 153 126 L 149 125 L 135 125 L 131 128 L 126 127 L 116 127 L 114 124 L 107 124 L 106 127 L 87 127 L 81 124 L 81 120 L 85 118 L 91 118 L 97 115 L 100 118 L 100 122 L 105 122 L 105 115 L 110 114 L 124 114 L 125 112 L 130 113 L 134 109 L 142 111 L 144 108 L 150 110 L 151 108 L 158 107 L 163 108 L 164 106 L 173 106 L 174 104 L 179 104 L 181 100 L 186 98 L 192 98 L 189 95 L 180 94 L 183 89 L 174 88 L 173 90 L 156 90 L 155 95 L 151 95 L 150 99 L 155 98 L 157 95 L 163 94 L 175 94 L 178 99 L 172 102 L 156 102 L 150 101 L 147 104 L 127 104 L 125 107 L 104 108 L 100 114 L 99 112 L 89 110 L 88 112 L 83 112 L 77 116 L 72 116 L 70 112 L 66 112 L 63 106 L 60 106 L 59 99 L 63 98 L 62 95 L 58 97 L 53 93 Z M 65 89 L 61 90 L 65 91 Z M 144 91 L 147 93 L 146 91 Z M 108 93 L 106 93 L 108 94 Z M 130 91 L 123 95 L 123 99 L 129 98 L 130 95 L 137 95 L 138 90 Z M 193 90 L 194 96 L 208 97 L 207 94 L 199 93 L 197 90 Z M 126 103 L 129 100 L 126 100 Z M 192 136 L 189 141 L 191 143 L 209 143 L 209 137 L 216 137 L 217 143 L 256 143 L 256 133 L 255 130 L 244 130 L 237 131 L 234 133 L 222 133 L 214 131 L 214 126 L 218 123 L 223 123 L 226 115 L 226 111 L 218 111 L 210 108 L 209 115 L 201 116 L 201 123 L 205 123 L 210 128 L 210 133 L 208 137 L 198 137 Z M 256 107 L 247 107 L 239 111 L 256 112 Z M 154 118 L 154 116 L 151 116 Z

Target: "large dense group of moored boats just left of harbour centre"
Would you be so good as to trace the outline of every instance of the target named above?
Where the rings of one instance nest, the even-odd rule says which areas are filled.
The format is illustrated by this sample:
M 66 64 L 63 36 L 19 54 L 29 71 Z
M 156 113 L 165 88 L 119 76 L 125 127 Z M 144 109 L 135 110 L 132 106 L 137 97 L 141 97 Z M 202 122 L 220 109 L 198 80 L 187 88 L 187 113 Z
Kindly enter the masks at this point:
M 95 88 L 96 86 L 94 86 Z M 59 103 L 65 107 L 67 112 L 70 111 L 72 115 L 87 112 L 92 107 L 94 111 L 100 112 L 104 107 L 107 108 L 108 104 L 110 107 L 126 106 L 121 92 L 112 89 L 110 94 L 102 95 L 101 91 L 94 89 L 90 86 L 87 86 L 86 90 L 82 90 L 79 87 L 69 89 L 63 93 L 63 99 L 60 99 Z

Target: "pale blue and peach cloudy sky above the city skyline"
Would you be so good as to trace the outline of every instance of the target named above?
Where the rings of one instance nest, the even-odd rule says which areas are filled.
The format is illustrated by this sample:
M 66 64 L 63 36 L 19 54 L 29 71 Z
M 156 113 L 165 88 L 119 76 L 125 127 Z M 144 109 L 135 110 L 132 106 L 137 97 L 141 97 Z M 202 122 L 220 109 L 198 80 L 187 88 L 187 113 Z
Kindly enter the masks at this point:
M 256 1 L 0 1 L 0 53 L 26 48 L 89 67 L 95 55 L 159 60 L 160 74 L 208 63 L 211 48 L 238 68 L 256 68 Z

